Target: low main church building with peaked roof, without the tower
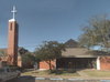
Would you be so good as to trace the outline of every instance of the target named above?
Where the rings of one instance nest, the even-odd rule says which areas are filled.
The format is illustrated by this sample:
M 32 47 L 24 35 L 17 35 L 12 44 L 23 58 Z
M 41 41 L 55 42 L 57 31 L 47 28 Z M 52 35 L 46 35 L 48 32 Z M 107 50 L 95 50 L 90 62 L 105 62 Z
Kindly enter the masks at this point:
M 52 69 L 97 69 L 110 70 L 110 55 L 105 51 L 88 50 L 78 45 L 75 40 L 68 40 L 66 51 L 62 52 L 62 58 L 51 61 Z M 40 62 L 40 70 L 48 70 L 48 61 Z

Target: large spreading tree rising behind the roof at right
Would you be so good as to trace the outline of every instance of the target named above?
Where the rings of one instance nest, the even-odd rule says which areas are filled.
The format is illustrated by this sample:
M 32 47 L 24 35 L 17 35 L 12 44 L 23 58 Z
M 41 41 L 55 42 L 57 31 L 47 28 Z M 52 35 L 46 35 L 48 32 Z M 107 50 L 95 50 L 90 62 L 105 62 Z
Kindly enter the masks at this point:
M 95 17 L 90 19 L 89 25 L 82 29 L 79 37 L 81 45 L 92 48 L 99 45 L 101 49 L 110 48 L 110 20 L 107 17 Z

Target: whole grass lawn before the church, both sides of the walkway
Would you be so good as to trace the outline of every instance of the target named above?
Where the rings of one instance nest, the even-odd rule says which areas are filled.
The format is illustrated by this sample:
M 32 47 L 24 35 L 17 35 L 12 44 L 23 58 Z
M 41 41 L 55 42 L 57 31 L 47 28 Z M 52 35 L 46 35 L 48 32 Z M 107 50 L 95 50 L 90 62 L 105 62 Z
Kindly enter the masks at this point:
M 81 70 L 82 73 L 90 78 L 110 78 L 110 71 L 98 71 L 98 70 Z M 44 78 L 85 78 L 75 71 L 29 71 L 21 75 L 32 75 L 32 76 L 44 76 Z

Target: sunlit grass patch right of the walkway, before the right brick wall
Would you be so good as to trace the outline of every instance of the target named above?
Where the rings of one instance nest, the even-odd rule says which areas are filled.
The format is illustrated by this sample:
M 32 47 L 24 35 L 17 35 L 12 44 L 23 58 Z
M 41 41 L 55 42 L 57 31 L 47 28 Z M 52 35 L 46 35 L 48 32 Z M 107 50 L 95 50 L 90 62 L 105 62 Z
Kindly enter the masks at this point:
M 89 76 L 110 78 L 110 71 L 86 70 L 84 72 Z

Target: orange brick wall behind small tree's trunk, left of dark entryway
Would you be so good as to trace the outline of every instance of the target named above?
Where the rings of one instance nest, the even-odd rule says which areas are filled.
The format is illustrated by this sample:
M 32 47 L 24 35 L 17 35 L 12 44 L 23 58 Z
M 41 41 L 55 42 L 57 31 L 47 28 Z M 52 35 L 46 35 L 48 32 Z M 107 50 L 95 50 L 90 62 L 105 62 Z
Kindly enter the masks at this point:
M 56 66 L 56 60 L 51 61 L 51 68 L 55 69 L 55 66 Z M 40 62 L 40 70 L 50 70 L 48 61 Z

